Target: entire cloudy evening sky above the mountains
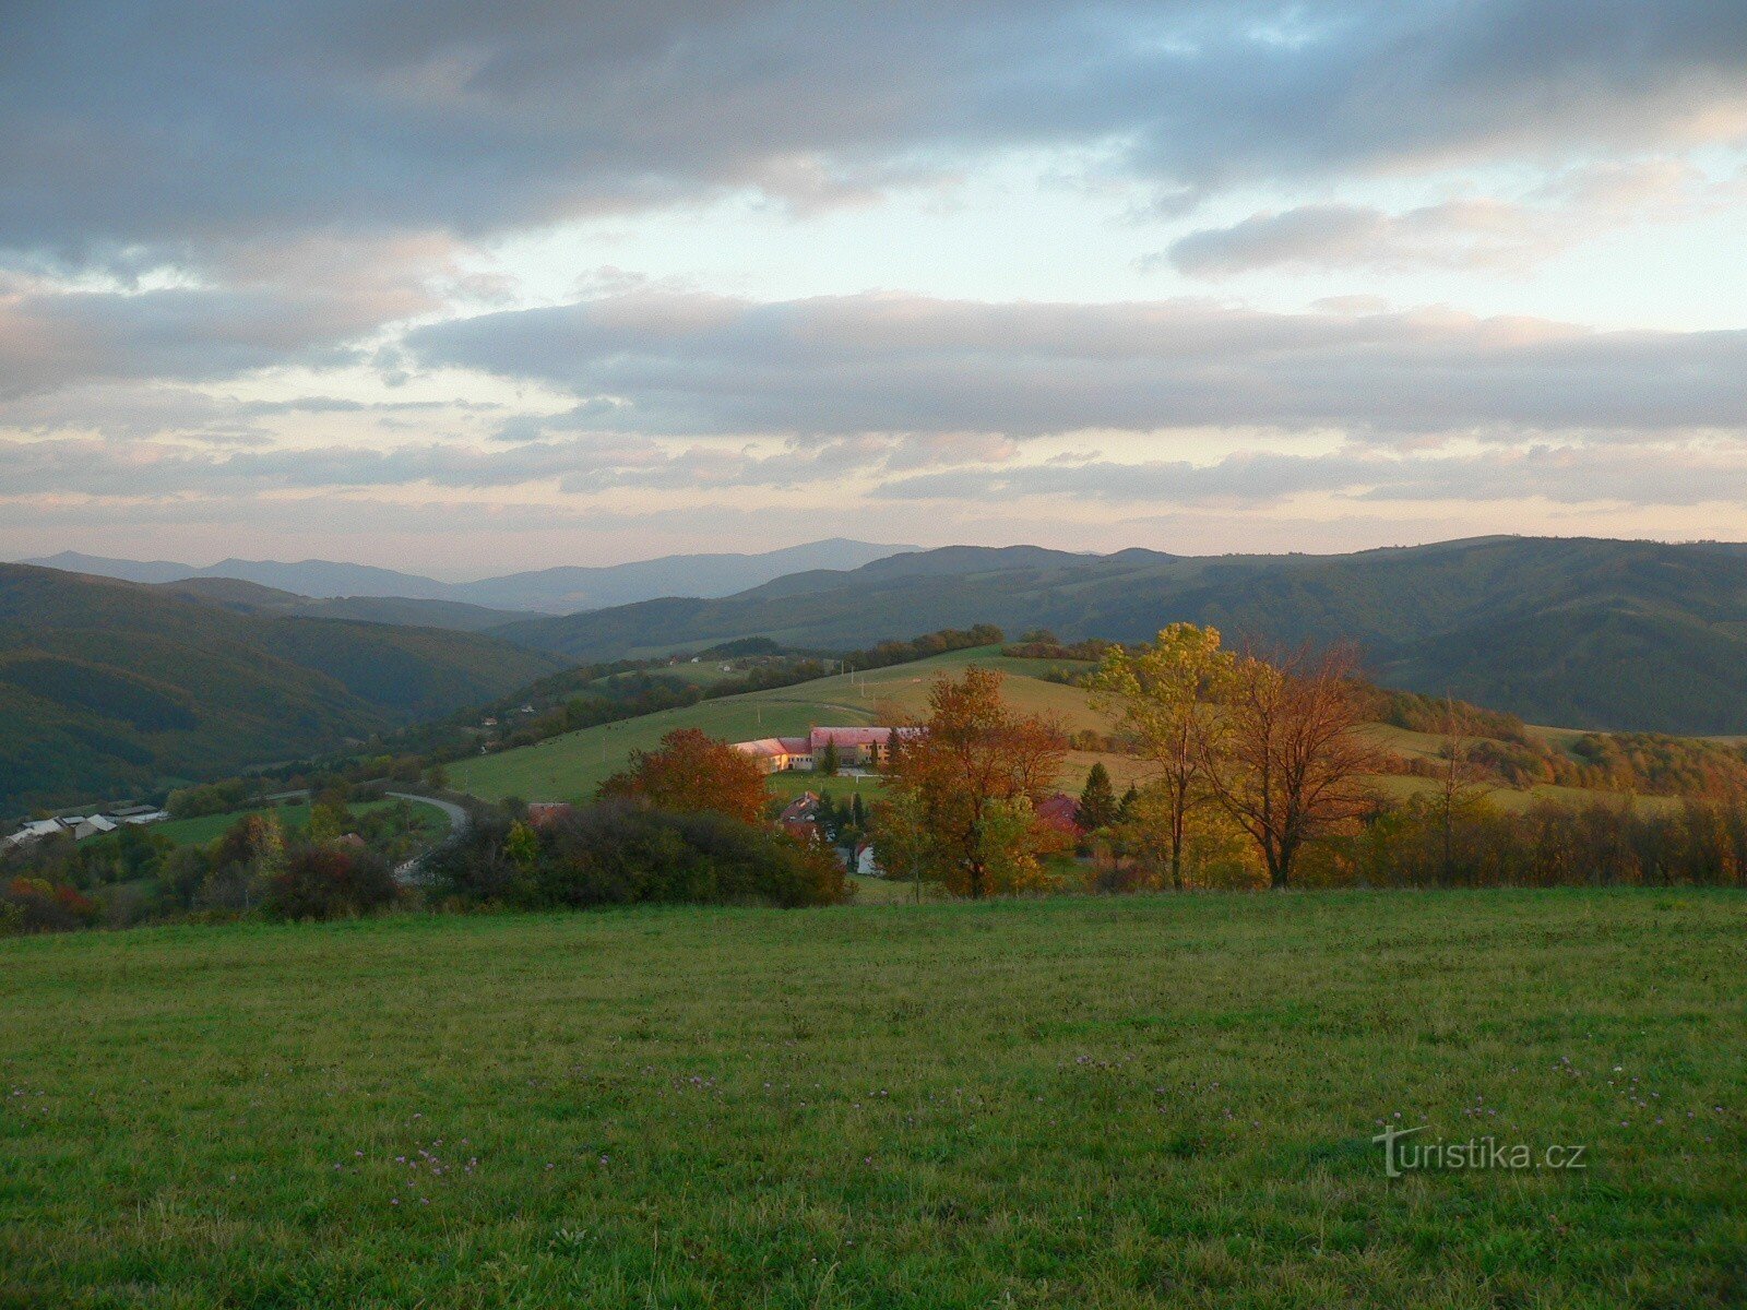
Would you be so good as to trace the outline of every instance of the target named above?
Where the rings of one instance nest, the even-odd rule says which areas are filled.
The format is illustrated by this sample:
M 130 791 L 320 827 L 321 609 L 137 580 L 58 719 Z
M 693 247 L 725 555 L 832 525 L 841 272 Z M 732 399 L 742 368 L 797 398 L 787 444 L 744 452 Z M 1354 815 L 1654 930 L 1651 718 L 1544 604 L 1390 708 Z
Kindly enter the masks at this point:
M 0 557 L 1747 538 L 1740 0 L 12 0 Z

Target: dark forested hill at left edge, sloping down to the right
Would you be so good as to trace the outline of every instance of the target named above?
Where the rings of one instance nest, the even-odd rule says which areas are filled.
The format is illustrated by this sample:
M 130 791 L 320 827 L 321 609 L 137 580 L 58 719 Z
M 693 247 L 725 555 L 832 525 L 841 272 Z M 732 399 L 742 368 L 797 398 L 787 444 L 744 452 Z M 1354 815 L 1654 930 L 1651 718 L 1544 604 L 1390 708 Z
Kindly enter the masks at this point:
M 236 613 L 0 564 L 0 812 L 306 755 L 561 664 L 477 634 Z

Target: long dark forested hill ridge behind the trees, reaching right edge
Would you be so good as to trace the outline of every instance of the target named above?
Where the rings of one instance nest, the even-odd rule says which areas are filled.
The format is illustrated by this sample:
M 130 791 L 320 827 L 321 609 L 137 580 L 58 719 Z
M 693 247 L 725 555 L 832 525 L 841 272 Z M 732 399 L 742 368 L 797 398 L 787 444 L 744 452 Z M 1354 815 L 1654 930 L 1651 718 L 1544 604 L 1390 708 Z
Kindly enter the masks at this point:
M 1350 555 L 954 547 L 494 629 L 575 660 L 742 636 L 851 648 L 940 627 L 1139 641 L 1169 622 L 1356 641 L 1382 683 L 1532 721 L 1747 732 L 1747 559 L 1728 545 L 1474 538 Z

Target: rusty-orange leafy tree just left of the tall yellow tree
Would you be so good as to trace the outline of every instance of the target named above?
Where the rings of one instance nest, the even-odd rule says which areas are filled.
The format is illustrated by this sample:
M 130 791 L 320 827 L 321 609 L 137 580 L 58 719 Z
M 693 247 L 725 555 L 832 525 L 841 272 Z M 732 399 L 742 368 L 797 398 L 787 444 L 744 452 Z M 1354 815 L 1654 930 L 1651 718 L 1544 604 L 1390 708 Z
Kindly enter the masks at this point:
M 935 679 L 922 730 L 887 767 L 880 807 L 880 863 L 887 872 L 945 882 L 980 898 L 1034 882 L 1038 856 L 1055 844 L 1032 805 L 1062 767 L 1059 727 L 1015 714 L 1001 674 L 968 667 Z

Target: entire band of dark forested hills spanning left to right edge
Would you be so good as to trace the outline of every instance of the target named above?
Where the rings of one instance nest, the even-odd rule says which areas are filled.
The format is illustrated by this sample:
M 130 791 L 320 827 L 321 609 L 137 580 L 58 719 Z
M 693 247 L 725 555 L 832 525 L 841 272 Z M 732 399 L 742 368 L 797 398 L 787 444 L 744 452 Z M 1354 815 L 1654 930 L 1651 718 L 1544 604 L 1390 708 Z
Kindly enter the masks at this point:
M 653 585 L 667 568 L 680 566 L 652 561 L 646 582 L 624 585 Z M 973 624 L 1141 641 L 1177 620 L 1230 641 L 1352 641 L 1384 685 L 1536 723 L 1747 734 L 1747 547 L 1730 543 L 1492 536 L 1216 557 L 947 547 L 730 596 L 538 617 L 454 597 L 323 597 L 218 576 L 147 585 L 14 564 L 0 566 L 0 809 L 297 758 L 577 662 L 753 636 L 847 650 Z

